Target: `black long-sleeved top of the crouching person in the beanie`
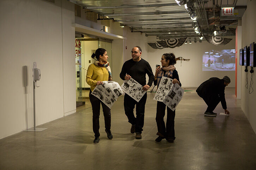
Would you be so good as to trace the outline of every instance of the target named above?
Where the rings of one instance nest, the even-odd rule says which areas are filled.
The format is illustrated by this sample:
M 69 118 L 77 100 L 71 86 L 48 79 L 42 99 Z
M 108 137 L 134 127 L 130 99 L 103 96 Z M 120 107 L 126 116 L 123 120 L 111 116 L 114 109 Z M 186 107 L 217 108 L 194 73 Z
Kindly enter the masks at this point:
M 203 82 L 197 89 L 196 92 L 200 97 L 216 96 L 220 97 L 220 102 L 223 109 L 227 109 L 227 103 L 225 100 L 225 85 L 224 80 L 212 77 L 209 80 Z

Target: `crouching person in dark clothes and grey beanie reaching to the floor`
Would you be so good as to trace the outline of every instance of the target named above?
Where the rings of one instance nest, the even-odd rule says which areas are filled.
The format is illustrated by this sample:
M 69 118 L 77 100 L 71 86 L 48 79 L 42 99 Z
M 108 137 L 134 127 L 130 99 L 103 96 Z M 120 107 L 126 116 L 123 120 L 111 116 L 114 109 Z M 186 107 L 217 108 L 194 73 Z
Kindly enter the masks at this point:
M 197 94 L 203 98 L 207 104 L 205 116 L 216 116 L 214 109 L 221 102 L 222 108 L 225 110 L 225 114 L 229 114 L 227 110 L 227 104 L 225 100 L 225 87 L 230 83 L 230 78 L 224 76 L 222 79 L 212 77 L 209 80 L 203 82 L 197 89 Z

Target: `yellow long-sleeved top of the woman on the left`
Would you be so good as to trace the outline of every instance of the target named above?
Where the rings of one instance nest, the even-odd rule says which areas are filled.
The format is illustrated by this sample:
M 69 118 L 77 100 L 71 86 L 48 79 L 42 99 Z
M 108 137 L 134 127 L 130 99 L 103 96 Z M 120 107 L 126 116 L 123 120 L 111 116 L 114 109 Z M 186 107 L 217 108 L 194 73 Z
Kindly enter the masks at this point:
M 106 67 L 90 64 L 86 74 L 86 82 L 91 86 L 91 91 L 93 91 L 97 81 L 108 81 L 108 76 Z

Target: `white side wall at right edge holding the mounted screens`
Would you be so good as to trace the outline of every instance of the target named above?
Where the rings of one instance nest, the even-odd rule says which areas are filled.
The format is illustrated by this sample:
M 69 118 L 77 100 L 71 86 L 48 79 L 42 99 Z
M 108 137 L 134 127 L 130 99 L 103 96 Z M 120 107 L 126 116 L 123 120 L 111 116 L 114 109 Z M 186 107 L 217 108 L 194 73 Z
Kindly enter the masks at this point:
M 249 46 L 250 43 L 256 42 L 256 1 L 250 1 L 248 0 L 247 3 L 247 9 L 242 17 L 242 47 Z M 248 73 L 248 89 L 245 88 L 246 84 L 246 74 L 244 72 L 245 66 L 242 68 L 242 110 L 244 111 L 246 117 L 248 118 L 254 132 L 256 133 L 256 92 L 253 92 L 252 94 L 249 94 L 249 86 L 251 81 L 251 73 Z M 248 70 L 250 70 L 251 67 L 249 67 Z M 254 68 L 255 70 L 255 68 Z M 256 90 L 256 77 L 255 73 L 253 74 L 253 81 L 254 84 L 252 85 L 252 88 Z

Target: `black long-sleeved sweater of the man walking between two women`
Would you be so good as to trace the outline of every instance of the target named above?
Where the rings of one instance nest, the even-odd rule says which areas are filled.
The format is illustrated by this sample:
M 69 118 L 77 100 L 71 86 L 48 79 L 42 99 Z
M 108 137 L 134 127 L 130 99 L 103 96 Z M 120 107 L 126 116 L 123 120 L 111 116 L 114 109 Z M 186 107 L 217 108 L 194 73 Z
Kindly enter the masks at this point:
M 133 61 L 133 59 L 127 60 L 121 70 L 120 78 L 125 80 L 125 75 L 130 75 L 141 86 L 146 85 L 146 74 L 149 77 L 148 85 L 151 86 L 154 81 L 154 74 L 147 61 L 141 58 L 140 61 Z

